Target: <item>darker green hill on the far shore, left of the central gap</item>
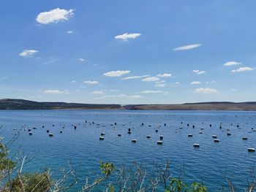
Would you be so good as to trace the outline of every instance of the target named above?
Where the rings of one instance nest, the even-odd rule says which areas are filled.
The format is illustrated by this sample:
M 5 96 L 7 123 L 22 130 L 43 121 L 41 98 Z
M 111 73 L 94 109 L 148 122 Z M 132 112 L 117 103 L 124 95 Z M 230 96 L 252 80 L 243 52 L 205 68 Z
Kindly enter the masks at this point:
M 37 102 L 24 99 L 0 99 L 0 110 L 116 110 L 120 104 L 77 104 L 64 102 Z

